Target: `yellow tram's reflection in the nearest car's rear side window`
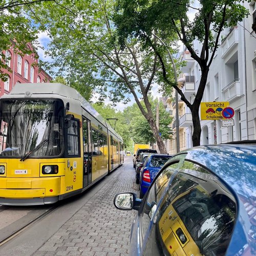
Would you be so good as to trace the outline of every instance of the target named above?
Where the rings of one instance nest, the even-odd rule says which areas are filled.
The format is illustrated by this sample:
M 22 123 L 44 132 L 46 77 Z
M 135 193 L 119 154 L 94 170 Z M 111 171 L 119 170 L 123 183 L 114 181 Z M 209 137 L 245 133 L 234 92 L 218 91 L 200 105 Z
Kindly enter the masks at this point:
M 170 255 L 225 254 L 236 219 L 235 200 L 214 177 L 203 182 L 204 175 L 209 176 L 177 175 L 159 209 L 157 233 Z

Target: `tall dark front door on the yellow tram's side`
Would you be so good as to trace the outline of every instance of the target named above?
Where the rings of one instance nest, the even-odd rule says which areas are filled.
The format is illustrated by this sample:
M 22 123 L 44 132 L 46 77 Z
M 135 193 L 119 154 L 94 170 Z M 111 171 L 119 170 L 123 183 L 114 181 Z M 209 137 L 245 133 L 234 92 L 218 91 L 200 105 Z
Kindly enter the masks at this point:
M 82 137 L 83 137 L 83 187 L 92 183 L 92 139 L 91 122 L 82 119 Z

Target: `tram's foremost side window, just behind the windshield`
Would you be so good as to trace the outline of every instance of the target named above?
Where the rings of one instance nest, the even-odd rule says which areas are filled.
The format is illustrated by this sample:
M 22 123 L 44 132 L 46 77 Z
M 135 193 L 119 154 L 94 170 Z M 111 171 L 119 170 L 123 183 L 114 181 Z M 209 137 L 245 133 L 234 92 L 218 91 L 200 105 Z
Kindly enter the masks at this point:
M 71 120 L 68 128 L 68 155 L 79 155 L 78 120 Z

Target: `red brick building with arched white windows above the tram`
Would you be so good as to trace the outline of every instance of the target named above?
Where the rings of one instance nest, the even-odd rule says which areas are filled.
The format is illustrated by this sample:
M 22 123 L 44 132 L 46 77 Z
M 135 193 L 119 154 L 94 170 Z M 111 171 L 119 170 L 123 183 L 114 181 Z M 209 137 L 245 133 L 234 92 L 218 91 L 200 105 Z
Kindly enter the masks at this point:
M 31 45 L 28 47 L 32 48 Z M 0 96 L 8 94 L 16 83 L 30 83 L 30 82 L 49 82 L 52 80 L 51 76 L 48 75 L 44 70 L 37 66 L 38 58 L 35 54 L 21 54 L 14 52 L 13 46 L 3 51 L 6 57 L 11 57 L 7 61 L 7 65 L 10 67 L 12 72 L 2 70 L 8 74 L 8 80 L 6 82 L 0 80 Z

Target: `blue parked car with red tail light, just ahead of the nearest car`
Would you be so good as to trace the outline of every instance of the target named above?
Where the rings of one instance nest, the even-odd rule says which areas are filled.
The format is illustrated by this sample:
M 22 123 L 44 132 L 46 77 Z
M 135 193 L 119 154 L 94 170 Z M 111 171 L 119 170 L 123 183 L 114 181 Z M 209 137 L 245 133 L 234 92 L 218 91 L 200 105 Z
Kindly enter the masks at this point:
M 159 170 L 163 165 L 171 158 L 170 155 L 163 154 L 151 154 L 147 157 L 145 163 L 140 168 L 139 184 L 140 184 L 140 196 L 143 198 L 148 187 L 150 187 L 152 181 L 159 173 Z

